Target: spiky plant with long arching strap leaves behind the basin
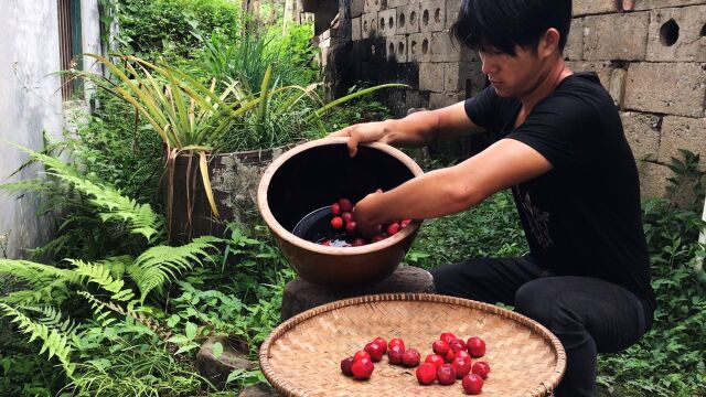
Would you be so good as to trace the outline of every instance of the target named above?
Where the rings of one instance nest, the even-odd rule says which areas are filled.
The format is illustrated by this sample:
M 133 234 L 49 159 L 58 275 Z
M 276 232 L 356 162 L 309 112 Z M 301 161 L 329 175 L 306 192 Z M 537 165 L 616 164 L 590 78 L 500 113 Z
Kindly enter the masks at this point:
M 103 64 L 111 77 L 83 71 L 72 72 L 73 76 L 89 79 L 97 87 L 132 105 L 137 115 L 147 120 L 164 142 L 170 229 L 174 169 L 179 154 L 192 154 L 189 155 L 185 175 L 188 207 L 192 207 L 189 186 L 195 183 L 195 175 L 193 180 L 191 175 L 191 161 L 197 158 L 197 170 L 208 205 L 213 215 L 218 217 L 208 178 L 207 155 L 217 151 L 224 141 L 274 142 L 278 139 L 277 133 L 281 132 L 281 129 L 268 127 L 274 121 L 298 120 L 302 125 L 312 125 L 333 106 L 381 88 L 404 86 L 379 85 L 324 104 L 315 94 L 318 83 L 307 87 L 280 86 L 277 81 L 272 82 L 271 65 L 267 66 L 259 92 L 255 93 L 248 88 L 249 85 L 232 78 L 226 82 L 212 79 L 206 86 L 168 64 L 131 55 L 118 56 L 120 64 L 101 55 L 84 56 Z M 191 222 L 191 214 L 188 214 L 188 219 Z

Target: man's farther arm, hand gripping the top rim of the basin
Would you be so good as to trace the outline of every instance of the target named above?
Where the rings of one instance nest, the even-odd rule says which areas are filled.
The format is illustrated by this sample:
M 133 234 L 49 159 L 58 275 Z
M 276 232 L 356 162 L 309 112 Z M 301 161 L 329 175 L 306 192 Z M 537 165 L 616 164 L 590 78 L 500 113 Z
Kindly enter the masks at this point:
M 331 133 L 330 137 L 350 137 L 349 151 L 351 155 L 355 155 L 357 144 L 363 142 L 418 148 L 436 139 L 481 131 L 483 128 L 469 119 L 461 101 L 441 109 L 417 111 L 402 119 L 350 126 Z

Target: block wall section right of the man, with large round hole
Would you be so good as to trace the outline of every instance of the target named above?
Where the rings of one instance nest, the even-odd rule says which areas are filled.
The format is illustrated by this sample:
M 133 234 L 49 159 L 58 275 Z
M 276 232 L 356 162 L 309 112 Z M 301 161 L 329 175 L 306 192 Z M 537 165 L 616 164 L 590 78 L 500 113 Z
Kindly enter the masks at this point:
M 706 1 L 574 0 L 565 51 L 613 97 L 644 196 L 664 196 L 678 149 L 706 170 Z

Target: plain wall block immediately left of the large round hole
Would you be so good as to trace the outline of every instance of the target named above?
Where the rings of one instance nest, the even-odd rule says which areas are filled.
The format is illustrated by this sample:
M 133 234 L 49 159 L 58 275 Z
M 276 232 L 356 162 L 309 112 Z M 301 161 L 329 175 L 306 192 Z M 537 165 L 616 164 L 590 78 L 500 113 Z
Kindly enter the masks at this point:
M 584 60 L 644 61 L 649 24 L 649 12 L 586 17 Z

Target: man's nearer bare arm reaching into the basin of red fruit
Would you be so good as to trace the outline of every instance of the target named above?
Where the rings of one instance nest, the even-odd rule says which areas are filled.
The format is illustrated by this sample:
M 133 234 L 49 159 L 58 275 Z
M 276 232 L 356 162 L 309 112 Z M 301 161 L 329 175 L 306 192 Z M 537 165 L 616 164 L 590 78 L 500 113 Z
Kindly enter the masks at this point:
M 536 150 L 502 139 L 458 165 L 428 172 L 388 192 L 368 194 L 355 206 L 355 222 L 370 232 L 395 219 L 453 214 L 549 170 L 552 164 Z

